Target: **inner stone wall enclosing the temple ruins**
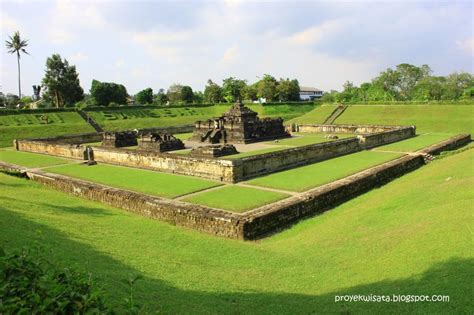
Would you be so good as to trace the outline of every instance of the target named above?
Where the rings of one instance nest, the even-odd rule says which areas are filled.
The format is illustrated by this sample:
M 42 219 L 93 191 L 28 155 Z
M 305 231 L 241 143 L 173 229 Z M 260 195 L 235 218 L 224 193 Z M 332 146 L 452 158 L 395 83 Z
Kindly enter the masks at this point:
M 196 156 L 170 153 L 103 147 L 92 147 L 89 150 L 89 153 L 91 153 L 94 156 L 94 159 L 98 162 L 198 176 L 220 180 L 227 183 L 236 183 L 281 170 L 323 161 L 337 156 L 407 139 L 413 137 L 416 130 L 413 126 L 307 126 L 311 126 L 311 128 L 319 128 L 323 132 L 326 129 L 338 130 L 337 132 L 340 132 L 340 130 L 353 132 L 353 128 L 359 128 L 366 132 L 373 131 L 375 133 L 360 134 L 354 138 L 309 144 L 240 159 L 199 158 Z M 82 143 L 94 142 L 92 139 L 95 140 L 97 135 L 99 134 L 71 136 L 71 139 L 68 140 L 64 140 L 64 136 L 61 138 L 16 140 L 15 147 L 20 151 L 46 153 L 75 159 L 86 159 L 86 146 L 72 143 L 78 143 L 79 140 L 81 140 Z

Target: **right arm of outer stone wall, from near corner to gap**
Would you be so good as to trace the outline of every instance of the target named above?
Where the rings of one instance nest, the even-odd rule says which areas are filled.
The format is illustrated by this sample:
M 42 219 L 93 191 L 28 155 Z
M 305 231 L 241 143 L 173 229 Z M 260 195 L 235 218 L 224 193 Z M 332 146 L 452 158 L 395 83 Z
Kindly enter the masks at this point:
M 301 196 L 249 211 L 245 215 L 243 238 L 256 239 L 278 231 L 304 217 L 322 213 L 411 172 L 423 164 L 421 156 L 404 156 L 312 189 Z

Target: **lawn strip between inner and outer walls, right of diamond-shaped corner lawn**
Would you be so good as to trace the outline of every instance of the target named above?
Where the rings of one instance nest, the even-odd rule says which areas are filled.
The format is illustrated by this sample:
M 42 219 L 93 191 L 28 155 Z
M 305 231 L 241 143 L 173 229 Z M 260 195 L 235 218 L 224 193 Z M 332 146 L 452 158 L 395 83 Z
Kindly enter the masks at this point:
M 362 151 L 258 177 L 246 183 L 289 191 L 305 191 L 400 156 L 400 153 Z

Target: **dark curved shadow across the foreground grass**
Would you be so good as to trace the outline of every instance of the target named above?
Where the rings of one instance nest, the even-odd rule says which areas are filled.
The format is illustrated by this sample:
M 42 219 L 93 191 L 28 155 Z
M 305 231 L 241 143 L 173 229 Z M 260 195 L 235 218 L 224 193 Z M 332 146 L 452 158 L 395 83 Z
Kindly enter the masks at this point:
M 125 280 L 143 276 L 134 287 L 134 298 L 144 313 L 173 314 L 311 314 L 311 313 L 469 313 L 473 309 L 472 270 L 474 259 L 453 258 L 433 265 L 422 274 L 407 279 L 380 281 L 323 295 L 284 292 L 201 292 L 182 290 L 154 279 L 93 247 L 71 240 L 64 233 L 32 222 L 23 215 L 0 207 L 0 245 L 9 250 L 41 244 L 45 254 L 59 266 L 91 272 L 104 287 L 109 300 L 122 313 L 128 287 Z M 381 268 L 384 268 L 381 266 Z M 212 272 L 212 270 L 203 270 Z M 231 272 L 231 271 L 229 271 Z M 205 274 L 203 274 L 205 276 Z M 190 283 L 192 286 L 192 283 Z M 317 287 L 320 284 L 315 283 Z M 229 290 L 235 290 L 229 288 Z M 449 295 L 448 303 L 368 303 L 339 302 L 335 295 L 422 294 Z

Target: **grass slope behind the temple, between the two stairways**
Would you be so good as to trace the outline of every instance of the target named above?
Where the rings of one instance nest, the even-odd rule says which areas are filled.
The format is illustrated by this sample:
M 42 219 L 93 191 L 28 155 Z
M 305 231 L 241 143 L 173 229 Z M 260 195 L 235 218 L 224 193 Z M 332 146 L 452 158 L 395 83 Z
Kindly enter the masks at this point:
M 231 104 L 218 104 L 206 107 L 171 108 L 123 108 L 91 110 L 88 114 L 106 130 L 166 127 L 193 124 L 197 120 L 218 117 L 229 109 Z M 265 105 L 247 104 L 261 117 L 282 117 L 285 120 L 297 117 L 314 108 L 312 104 Z

